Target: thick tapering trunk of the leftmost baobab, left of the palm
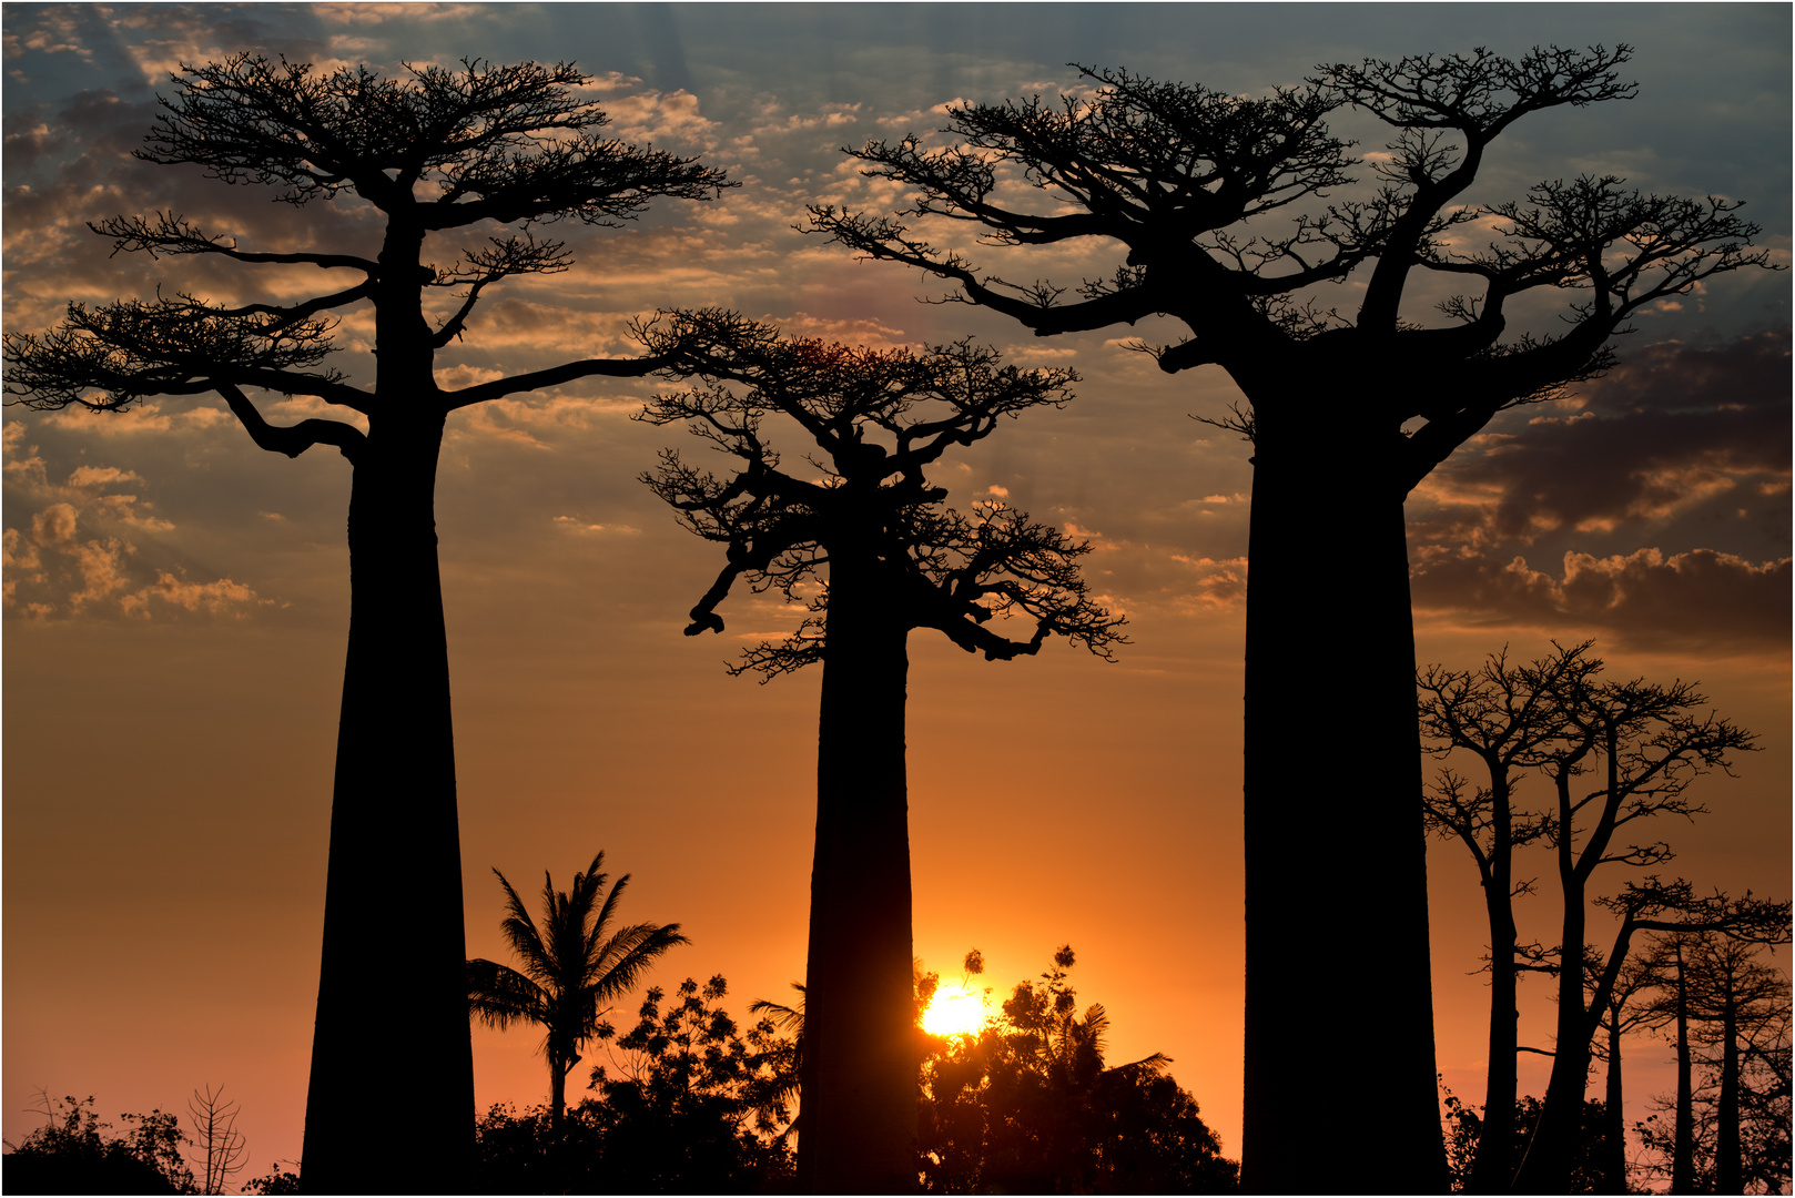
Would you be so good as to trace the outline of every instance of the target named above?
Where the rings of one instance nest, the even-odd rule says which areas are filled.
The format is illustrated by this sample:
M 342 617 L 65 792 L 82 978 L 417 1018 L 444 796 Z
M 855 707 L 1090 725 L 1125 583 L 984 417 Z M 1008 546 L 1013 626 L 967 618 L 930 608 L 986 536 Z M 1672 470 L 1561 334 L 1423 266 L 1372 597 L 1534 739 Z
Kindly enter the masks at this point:
M 449 652 L 436 566 L 442 418 L 375 424 L 350 498 L 305 1193 L 452 1193 L 472 1148 Z

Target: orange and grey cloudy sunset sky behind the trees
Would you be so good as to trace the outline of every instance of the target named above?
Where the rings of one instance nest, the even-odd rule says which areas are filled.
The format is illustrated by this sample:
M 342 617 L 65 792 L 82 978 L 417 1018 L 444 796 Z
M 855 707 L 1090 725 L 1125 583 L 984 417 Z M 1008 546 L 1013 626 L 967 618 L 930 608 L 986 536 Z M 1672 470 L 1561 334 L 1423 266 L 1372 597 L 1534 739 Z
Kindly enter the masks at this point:
M 1002 999 L 1072 943 L 1081 999 L 1113 1020 L 1111 1060 L 1170 1054 L 1228 1155 L 1240 1144 L 1251 467 L 1248 445 L 1190 417 L 1221 417 L 1239 393 L 1215 368 L 1165 375 L 1122 348 L 1170 329 L 1032 339 L 978 309 L 919 304 L 941 286 L 795 232 L 808 203 L 894 203 L 838 147 L 933 131 L 953 101 L 1075 90 L 1068 61 L 1255 93 L 1325 61 L 1630 43 L 1637 99 L 1520 122 L 1468 199 L 1585 172 L 1747 199 L 1759 244 L 1790 264 L 1782 4 L 7 4 L 0 20 L 11 332 L 52 325 L 68 300 L 153 296 L 158 282 L 217 298 L 318 287 L 316 271 L 108 257 L 84 221 L 172 208 L 248 248 L 368 244 L 373 225 L 352 201 L 291 208 L 131 160 L 178 63 L 253 50 L 398 72 L 477 56 L 571 59 L 594 75 L 617 137 L 700 156 L 741 187 L 662 203 L 621 230 L 555 226 L 576 266 L 495 289 L 438 359 L 445 386 L 628 354 L 630 318 L 698 305 L 878 347 L 975 336 L 1020 365 L 1075 366 L 1068 408 L 1005 424 L 933 481 L 955 507 L 1005 498 L 1088 539 L 1093 589 L 1127 612 L 1133 643 L 1115 665 L 1063 643 L 987 663 L 912 638 L 915 954 L 957 977 L 982 948 Z M 1382 149 L 1353 113 L 1334 126 Z M 1077 284 L 1111 266 L 1109 246 L 1077 244 L 1021 277 Z M 1405 314 L 1438 320 L 1425 304 Z M 1553 329 L 1551 313 L 1529 316 Z M 366 332 L 352 314 L 337 356 L 359 379 Z M 1698 887 L 1788 898 L 1790 277 L 1718 277 L 1641 318 L 1619 352 L 1607 379 L 1501 417 L 1411 498 L 1418 656 L 1472 668 L 1502 645 L 1526 659 L 1594 638 L 1614 677 L 1698 679 L 1761 751 L 1738 778 L 1698 783 L 1709 815 L 1650 837 L 1678 848 L 1668 871 Z M 506 959 L 492 868 L 533 894 L 542 869 L 565 887 L 603 848 L 614 873 L 634 875 L 625 920 L 691 936 L 655 981 L 723 973 L 741 1015 L 804 975 L 820 677 L 725 675 L 747 643 L 795 623 L 777 595 L 731 598 L 722 638 L 680 636 L 720 555 L 637 481 L 659 447 L 689 442 L 630 420 L 653 386 L 582 383 L 451 418 L 438 530 L 468 954 Z M 266 397 L 264 411 L 293 422 L 321 404 Z M 223 1085 L 242 1103 L 248 1180 L 300 1155 L 348 463 L 327 447 L 264 453 L 215 397 L 124 415 L 7 408 L 4 429 L 4 1133 L 16 1142 L 36 1126 L 39 1087 L 93 1094 L 115 1119 L 181 1110 L 196 1087 Z M 1314 503 L 1318 537 L 1350 535 L 1327 519 L 1328 496 Z M 1330 595 L 1316 578 L 1314 602 Z M 1289 683 L 1312 688 L 1327 718 L 1352 702 L 1352 674 L 1350 647 L 1318 647 L 1312 675 Z M 1289 762 L 1346 805 L 1379 788 L 1350 762 L 1307 760 L 1300 727 Z M 1440 1069 L 1481 1101 L 1475 871 L 1447 842 L 1429 868 Z M 1522 903 L 1522 939 L 1553 943 L 1551 864 L 1531 868 L 1542 882 Z M 1608 869 L 1596 893 L 1628 876 Z M 390 909 L 368 914 L 398 938 L 413 918 L 404 860 L 390 882 Z M 1289 929 L 1292 952 L 1366 941 L 1364 973 L 1318 977 L 1318 1004 L 1377 984 L 1375 920 L 1339 894 Z M 1607 943 L 1603 920 L 1592 936 Z M 377 1135 L 381 1108 L 406 1099 L 407 1061 L 431 1045 L 407 1038 L 370 981 L 368 1018 L 391 1024 L 393 1054 L 341 1101 Z M 634 1000 L 619 1015 L 628 1022 Z M 1522 1044 L 1547 1047 L 1551 1026 L 1547 988 L 1524 984 Z M 531 1031 L 474 1033 L 481 1108 L 546 1099 L 537 1044 Z M 1371 1044 L 1316 1053 L 1377 1069 Z M 1671 1087 L 1668 1051 L 1642 1038 L 1632 1053 L 1632 1117 L 1644 1117 L 1644 1099 Z M 1544 1092 L 1545 1061 L 1522 1056 L 1524 1090 Z

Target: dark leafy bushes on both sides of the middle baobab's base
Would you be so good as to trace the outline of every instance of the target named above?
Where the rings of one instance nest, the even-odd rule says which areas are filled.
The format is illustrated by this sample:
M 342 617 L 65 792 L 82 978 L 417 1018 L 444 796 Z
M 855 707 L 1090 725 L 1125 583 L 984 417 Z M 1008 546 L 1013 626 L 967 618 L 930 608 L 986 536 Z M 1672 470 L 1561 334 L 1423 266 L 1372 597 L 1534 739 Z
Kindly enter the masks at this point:
M 976 961 L 976 954 L 969 957 Z M 1061 948 L 973 1035 L 915 1031 L 924 1193 L 1222 1193 L 1239 1166 L 1151 1056 L 1111 1067 L 1100 1004 L 1079 1008 Z M 917 979 L 917 1011 L 935 977 Z M 723 977 L 648 991 L 635 1026 L 600 1026 L 605 1063 L 565 1108 L 497 1105 L 476 1141 L 477 1193 L 795 1193 L 802 1004 L 754 1002 Z

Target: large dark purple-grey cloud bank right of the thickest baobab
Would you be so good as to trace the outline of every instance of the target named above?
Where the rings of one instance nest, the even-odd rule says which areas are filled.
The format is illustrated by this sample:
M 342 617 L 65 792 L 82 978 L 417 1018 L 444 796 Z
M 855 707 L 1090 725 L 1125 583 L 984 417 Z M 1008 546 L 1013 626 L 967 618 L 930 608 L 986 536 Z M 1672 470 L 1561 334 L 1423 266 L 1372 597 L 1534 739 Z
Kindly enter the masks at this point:
M 1648 345 L 1510 413 L 1416 492 L 1416 609 L 1639 648 L 1781 648 L 1788 494 L 1788 330 Z

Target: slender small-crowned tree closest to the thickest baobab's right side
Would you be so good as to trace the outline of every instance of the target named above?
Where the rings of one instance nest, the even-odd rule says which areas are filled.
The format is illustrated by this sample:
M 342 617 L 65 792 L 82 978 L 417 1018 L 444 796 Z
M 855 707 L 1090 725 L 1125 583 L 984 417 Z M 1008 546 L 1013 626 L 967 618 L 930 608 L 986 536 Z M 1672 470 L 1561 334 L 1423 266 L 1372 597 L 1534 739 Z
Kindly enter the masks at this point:
M 1526 666 L 1511 666 L 1506 650 L 1490 654 L 1475 674 L 1429 666 L 1420 675 L 1422 738 L 1429 753 L 1467 751 L 1479 758 L 1488 787 L 1470 785 L 1450 769 L 1423 792 L 1429 830 L 1458 837 L 1477 864 L 1484 916 L 1490 927 L 1490 1076 L 1484 1087 L 1475 1160 L 1463 1189 L 1504 1193 L 1515 1175 L 1520 1141 L 1515 1139 L 1519 1038 L 1517 982 L 1538 970 L 1540 945 L 1522 945 L 1515 929 L 1515 898 L 1533 893 L 1533 878 L 1515 876 L 1515 850 L 1545 832 L 1545 823 L 1515 806 L 1520 774 L 1549 760 L 1562 733 L 1553 686 L 1565 674 L 1596 668 L 1587 645 L 1560 648 Z M 1449 1157 L 1452 1153 L 1449 1151 Z

